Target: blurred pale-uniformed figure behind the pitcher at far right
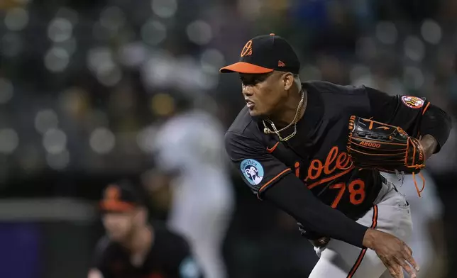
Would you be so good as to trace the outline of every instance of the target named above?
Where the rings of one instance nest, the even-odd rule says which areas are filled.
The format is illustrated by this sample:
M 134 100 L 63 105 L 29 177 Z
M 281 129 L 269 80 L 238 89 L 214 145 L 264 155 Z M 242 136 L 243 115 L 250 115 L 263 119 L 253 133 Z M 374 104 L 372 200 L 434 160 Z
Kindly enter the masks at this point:
M 421 271 L 417 277 L 443 277 L 444 269 L 444 243 L 443 243 L 443 223 L 442 223 L 442 204 L 436 192 L 436 183 L 427 170 L 422 170 L 426 181 L 426 187 L 421 192 L 421 197 L 417 195 L 414 179 L 412 175 L 405 175 L 400 191 L 406 197 L 411 207 L 412 223 L 414 231 L 408 241 L 412 249 L 414 259 L 421 266 Z M 401 177 L 396 174 L 382 173 L 390 182 L 401 182 Z M 419 179 L 416 177 L 416 179 Z M 420 179 L 419 179 L 420 180 Z M 419 189 L 422 182 L 418 181 Z M 405 274 L 405 277 L 407 274 Z

